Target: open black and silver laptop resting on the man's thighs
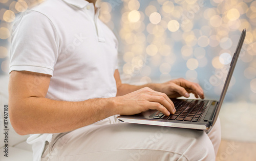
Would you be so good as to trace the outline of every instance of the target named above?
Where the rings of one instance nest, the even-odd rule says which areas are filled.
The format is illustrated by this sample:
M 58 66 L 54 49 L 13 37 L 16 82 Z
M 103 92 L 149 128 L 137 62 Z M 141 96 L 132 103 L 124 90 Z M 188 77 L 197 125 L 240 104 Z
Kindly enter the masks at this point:
M 209 130 L 212 126 L 214 126 L 218 118 L 221 105 L 234 71 L 234 67 L 236 66 L 239 53 L 244 43 L 245 35 L 246 29 L 242 31 L 236 52 L 234 52 L 219 101 L 171 98 L 176 108 L 176 113 L 174 115 L 165 116 L 160 111 L 148 110 L 131 116 L 121 115 L 117 118 L 120 121 L 128 123 Z

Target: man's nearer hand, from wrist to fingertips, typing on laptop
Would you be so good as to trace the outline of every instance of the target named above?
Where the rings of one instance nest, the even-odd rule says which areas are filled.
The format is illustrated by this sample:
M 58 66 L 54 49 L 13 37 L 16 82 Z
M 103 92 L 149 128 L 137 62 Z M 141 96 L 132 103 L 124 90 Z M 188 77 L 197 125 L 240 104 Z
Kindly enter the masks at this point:
M 147 110 L 158 110 L 164 115 L 176 112 L 174 103 L 165 93 L 145 87 L 132 93 L 113 97 L 115 108 L 120 115 L 134 115 Z

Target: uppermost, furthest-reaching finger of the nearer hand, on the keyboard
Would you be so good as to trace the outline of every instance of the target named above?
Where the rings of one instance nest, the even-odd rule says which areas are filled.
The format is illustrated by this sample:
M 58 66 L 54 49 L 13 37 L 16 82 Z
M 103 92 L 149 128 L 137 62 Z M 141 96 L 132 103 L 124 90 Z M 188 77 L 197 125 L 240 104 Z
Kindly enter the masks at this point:
M 173 102 L 170 103 L 168 100 L 166 100 L 163 96 L 157 96 L 153 95 L 149 101 L 151 102 L 158 102 L 162 104 L 171 114 L 174 114 L 176 112 Z

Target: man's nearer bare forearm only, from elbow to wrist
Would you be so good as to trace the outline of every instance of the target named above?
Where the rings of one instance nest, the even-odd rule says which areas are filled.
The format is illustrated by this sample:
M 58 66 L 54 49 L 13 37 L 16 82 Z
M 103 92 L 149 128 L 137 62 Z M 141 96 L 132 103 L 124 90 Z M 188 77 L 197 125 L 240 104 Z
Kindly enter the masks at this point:
M 10 104 L 11 123 L 20 135 L 71 131 L 115 115 L 112 98 L 80 102 L 30 97 Z

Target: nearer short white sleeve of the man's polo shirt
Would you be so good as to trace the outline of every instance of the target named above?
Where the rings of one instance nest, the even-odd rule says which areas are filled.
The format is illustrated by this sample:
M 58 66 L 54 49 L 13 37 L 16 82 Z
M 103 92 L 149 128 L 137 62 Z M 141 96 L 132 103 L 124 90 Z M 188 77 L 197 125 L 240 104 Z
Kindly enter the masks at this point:
M 51 20 L 37 11 L 28 11 L 13 24 L 10 70 L 53 75 L 59 39 Z

